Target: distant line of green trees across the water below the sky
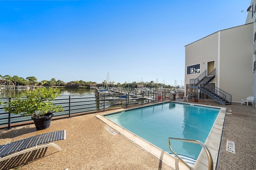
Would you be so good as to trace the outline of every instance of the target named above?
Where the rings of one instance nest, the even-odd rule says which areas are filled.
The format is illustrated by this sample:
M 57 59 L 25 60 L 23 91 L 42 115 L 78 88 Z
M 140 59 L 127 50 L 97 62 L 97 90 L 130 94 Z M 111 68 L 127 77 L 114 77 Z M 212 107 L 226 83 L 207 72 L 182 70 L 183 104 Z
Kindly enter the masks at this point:
M 109 87 L 119 87 L 119 88 L 139 88 L 139 87 L 144 87 L 144 88 L 159 88 L 159 87 L 163 87 L 163 88 L 173 88 L 173 86 L 170 85 L 165 85 L 165 84 L 161 84 L 161 83 L 154 83 L 154 81 L 150 81 L 150 82 L 132 82 L 132 83 L 127 83 L 124 82 L 124 84 L 121 83 L 117 83 L 115 84 L 114 81 L 112 82 L 107 82 L 106 80 L 104 80 L 101 84 L 97 84 L 96 82 L 85 82 L 83 80 L 80 81 L 70 81 L 70 82 L 64 82 L 62 80 L 57 80 L 55 78 L 52 78 L 51 80 L 42 80 L 41 82 L 37 81 L 37 78 L 34 76 L 30 76 L 25 78 L 19 77 L 19 76 L 10 76 L 10 75 L 5 75 L 2 76 L 0 74 L 0 79 L 9 82 L 9 83 L 13 83 L 15 86 L 26 86 L 26 85 L 30 85 L 30 86 L 45 86 L 45 87 L 52 87 L 52 86 L 68 86 L 68 87 L 88 87 L 90 86 L 90 84 L 96 84 L 96 86 L 100 87 L 100 86 L 104 86 L 106 87 L 107 85 Z

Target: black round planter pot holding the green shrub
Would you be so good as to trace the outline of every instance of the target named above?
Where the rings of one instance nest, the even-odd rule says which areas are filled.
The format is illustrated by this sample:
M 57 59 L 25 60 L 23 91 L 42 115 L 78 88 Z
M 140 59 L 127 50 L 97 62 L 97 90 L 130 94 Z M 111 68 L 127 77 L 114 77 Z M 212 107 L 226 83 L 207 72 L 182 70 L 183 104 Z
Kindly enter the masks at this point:
M 40 131 L 50 127 L 50 123 L 52 121 L 53 116 L 54 114 L 49 112 L 49 113 L 46 113 L 44 117 L 31 117 L 31 119 L 34 121 L 36 125 L 36 130 Z

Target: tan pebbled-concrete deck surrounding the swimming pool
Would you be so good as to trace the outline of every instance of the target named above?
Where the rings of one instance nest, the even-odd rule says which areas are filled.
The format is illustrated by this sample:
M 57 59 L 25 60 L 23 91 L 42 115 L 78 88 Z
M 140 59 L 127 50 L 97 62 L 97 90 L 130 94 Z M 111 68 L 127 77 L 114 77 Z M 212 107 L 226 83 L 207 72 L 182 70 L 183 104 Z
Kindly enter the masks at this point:
M 256 107 L 240 103 L 222 106 L 212 100 L 186 103 L 226 107 L 224 136 L 217 165 L 219 170 L 256 169 Z M 54 142 L 62 151 L 54 147 L 35 150 L 0 162 L 0 170 L 172 169 L 120 133 L 112 135 L 107 131 L 105 127 L 108 125 L 95 117 L 102 113 L 107 111 L 53 120 L 50 127 L 42 131 L 36 131 L 33 124 L 13 127 L 10 130 L 0 129 L 0 145 L 41 133 L 66 130 L 66 139 Z M 226 151 L 227 140 L 235 143 L 235 154 Z

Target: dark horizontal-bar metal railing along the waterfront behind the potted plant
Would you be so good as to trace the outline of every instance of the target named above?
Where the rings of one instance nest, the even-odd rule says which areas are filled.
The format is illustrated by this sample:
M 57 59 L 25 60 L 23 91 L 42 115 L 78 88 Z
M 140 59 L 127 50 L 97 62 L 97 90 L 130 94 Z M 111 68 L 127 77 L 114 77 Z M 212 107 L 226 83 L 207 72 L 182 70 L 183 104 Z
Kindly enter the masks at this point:
M 117 107 L 143 105 L 169 98 L 170 92 L 164 91 L 140 92 L 136 94 L 108 93 L 59 96 L 52 102 L 56 105 L 61 105 L 64 111 L 54 113 L 53 119 L 106 111 L 106 109 L 114 109 Z M 13 100 L 13 98 L 0 98 L 0 100 L 6 104 Z M 12 126 L 29 123 L 32 123 L 30 117 L 5 112 L 3 105 L 0 105 L 0 128 L 7 127 L 7 129 L 11 129 Z

